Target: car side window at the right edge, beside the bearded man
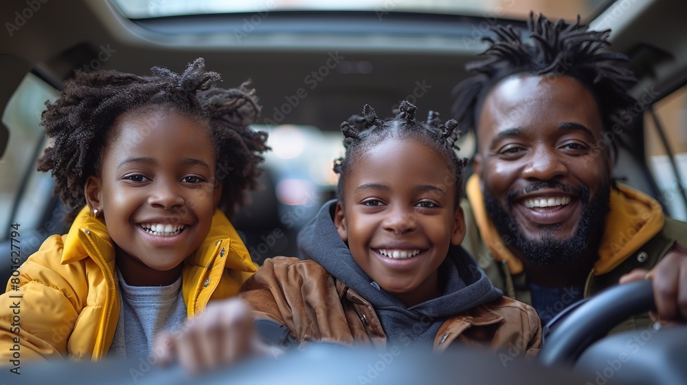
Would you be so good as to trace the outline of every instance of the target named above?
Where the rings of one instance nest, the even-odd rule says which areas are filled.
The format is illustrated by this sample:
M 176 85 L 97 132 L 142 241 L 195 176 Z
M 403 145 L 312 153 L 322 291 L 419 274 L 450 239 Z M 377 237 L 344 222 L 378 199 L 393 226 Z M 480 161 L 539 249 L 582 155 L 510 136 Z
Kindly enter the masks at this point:
M 644 122 L 646 162 L 668 214 L 686 221 L 687 86 L 656 102 L 653 111 L 655 117 L 646 113 Z

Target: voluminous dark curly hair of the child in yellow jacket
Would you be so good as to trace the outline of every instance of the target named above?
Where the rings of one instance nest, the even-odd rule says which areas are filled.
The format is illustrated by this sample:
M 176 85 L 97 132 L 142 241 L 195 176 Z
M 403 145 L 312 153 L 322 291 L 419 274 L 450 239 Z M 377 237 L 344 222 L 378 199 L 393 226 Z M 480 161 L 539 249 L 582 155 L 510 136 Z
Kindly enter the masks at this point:
M 77 71 L 56 102 L 45 102 L 41 125 L 52 146 L 38 158 L 37 168 L 52 171 L 54 193 L 69 210 L 68 221 L 84 206 L 86 180 L 100 173 L 104 148 L 124 113 L 171 109 L 207 126 L 215 147 L 215 179 L 223 185 L 219 207 L 228 217 L 245 203 L 247 189 L 258 186 L 260 154 L 268 147 L 267 133 L 249 128 L 260 113 L 255 90 L 248 83 L 214 88 L 220 76 L 205 71 L 203 58 L 182 74 L 161 67 L 151 71 L 153 76 Z

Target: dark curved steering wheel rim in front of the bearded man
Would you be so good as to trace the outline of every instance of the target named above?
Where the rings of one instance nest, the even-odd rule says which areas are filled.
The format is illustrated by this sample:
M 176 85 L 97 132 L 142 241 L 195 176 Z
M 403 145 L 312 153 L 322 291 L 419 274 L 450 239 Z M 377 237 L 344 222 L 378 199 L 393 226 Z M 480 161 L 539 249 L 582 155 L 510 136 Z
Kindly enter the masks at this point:
M 653 309 L 655 303 L 650 280 L 609 287 L 568 307 L 545 326 L 545 340 L 537 353 L 537 360 L 545 366 L 570 366 L 589 345 L 620 322 Z

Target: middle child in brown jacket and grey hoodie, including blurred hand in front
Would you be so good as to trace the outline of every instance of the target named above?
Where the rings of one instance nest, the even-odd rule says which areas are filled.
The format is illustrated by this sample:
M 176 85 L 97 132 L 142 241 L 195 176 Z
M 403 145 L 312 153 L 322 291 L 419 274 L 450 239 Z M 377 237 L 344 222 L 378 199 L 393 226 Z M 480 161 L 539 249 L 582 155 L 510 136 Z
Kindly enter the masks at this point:
M 205 360 L 208 351 L 230 360 L 264 342 L 539 349 L 534 309 L 504 297 L 460 247 L 464 161 L 453 149 L 456 122 L 439 124 L 436 113 L 417 122 L 415 111 L 402 102 L 385 121 L 365 106 L 341 124 L 346 157 L 335 162 L 338 196 L 299 235 L 307 259 L 265 261 L 239 294 L 250 316 L 236 303 L 209 309 L 200 325 L 164 341 L 168 353 L 177 351 L 197 370 L 221 361 Z M 251 317 L 258 333 L 246 330 Z M 232 327 L 232 341 L 199 338 Z

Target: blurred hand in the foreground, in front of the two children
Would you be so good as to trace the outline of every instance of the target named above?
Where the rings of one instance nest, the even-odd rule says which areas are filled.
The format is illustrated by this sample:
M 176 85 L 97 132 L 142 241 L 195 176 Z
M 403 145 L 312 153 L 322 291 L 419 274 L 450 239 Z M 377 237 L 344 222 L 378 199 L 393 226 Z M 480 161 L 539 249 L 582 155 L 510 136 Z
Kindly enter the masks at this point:
M 216 301 L 178 331 L 161 333 L 153 344 L 159 362 L 176 361 L 191 373 L 270 353 L 258 337 L 249 307 L 238 298 Z

